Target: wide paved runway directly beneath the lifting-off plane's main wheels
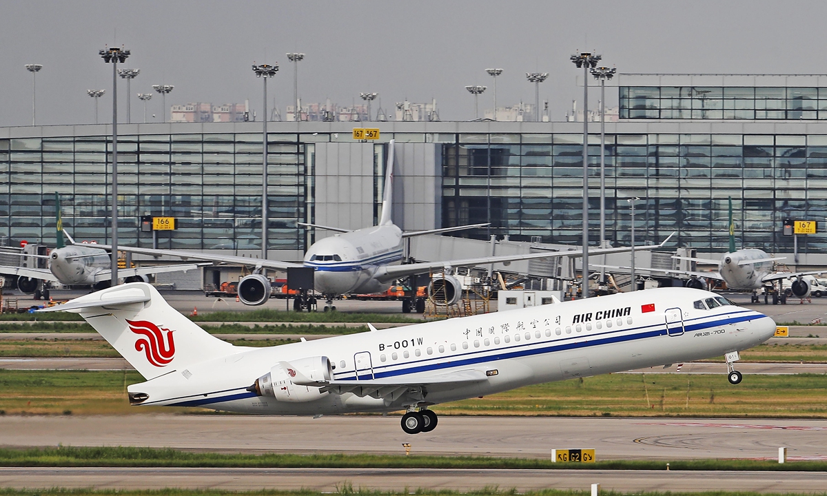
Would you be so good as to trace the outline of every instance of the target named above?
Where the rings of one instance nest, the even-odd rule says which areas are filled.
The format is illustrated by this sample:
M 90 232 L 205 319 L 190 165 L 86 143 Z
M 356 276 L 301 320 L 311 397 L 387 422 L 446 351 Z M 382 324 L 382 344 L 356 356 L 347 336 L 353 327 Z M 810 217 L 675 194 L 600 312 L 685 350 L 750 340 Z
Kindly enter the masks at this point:
M 0 416 L 0 446 L 151 446 L 281 453 L 550 457 L 594 448 L 598 460 L 827 459 L 827 421 L 582 417 L 448 417 L 409 436 L 399 416 Z M 2 484 L 0 484 L 2 486 Z M 827 488 L 827 485 L 823 486 Z

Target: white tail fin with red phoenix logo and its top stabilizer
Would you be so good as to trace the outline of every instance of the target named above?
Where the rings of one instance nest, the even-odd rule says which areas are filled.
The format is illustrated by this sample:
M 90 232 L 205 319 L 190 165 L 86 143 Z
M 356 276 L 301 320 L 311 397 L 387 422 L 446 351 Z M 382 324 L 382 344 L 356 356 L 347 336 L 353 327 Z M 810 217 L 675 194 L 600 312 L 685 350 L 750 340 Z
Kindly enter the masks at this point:
M 150 284 L 130 283 L 43 311 L 78 312 L 147 380 L 237 350 L 170 307 Z

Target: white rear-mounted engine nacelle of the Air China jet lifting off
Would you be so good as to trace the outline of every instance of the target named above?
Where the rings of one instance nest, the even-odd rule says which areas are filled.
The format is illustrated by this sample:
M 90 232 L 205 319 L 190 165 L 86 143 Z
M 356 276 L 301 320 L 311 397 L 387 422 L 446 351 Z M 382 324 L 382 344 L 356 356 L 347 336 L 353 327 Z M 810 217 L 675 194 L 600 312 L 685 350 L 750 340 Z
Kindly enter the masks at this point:
M 330 380 L 332 366 L 327 356 L 311 356 L 292 362 L 279 362 L 270 372 L 256 379 L 248 391 L 259 396 L 270 396 L 276 401 L 305 403 L 322 398 L 327 392 L 316 386 L 295 384 L 294 381 Z

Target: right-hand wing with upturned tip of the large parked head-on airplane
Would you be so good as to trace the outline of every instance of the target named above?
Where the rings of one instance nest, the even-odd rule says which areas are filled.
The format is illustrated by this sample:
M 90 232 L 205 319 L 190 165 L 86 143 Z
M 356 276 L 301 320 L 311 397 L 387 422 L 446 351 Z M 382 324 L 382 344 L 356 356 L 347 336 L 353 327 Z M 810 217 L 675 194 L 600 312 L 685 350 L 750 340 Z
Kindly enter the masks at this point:
M 666 242 L 669 241 L 670 238 L 672 238 L 672 236 L 667 237 L 667 239 L 665 239 L 660 245 L 635 246 L 634 249 L 655 250 L 657 248 L 662 248 L 662 246 L 666 244 Z M 609 253 L 624 253 L 631 250 L 631 248 L 625 246 L 619 248 L 595 248 L 589 250 L 589 256 L 604 255 Z M 441 270 L 445 269 L 446 267 L 471 267 L 475 265 L 499 264 L 503 262 L 515 262 L 519 260 L 556 258 L 560 256 L 576 257 L 581 255 L 583 255 L 583 250 L 547 251 L 543 253 L 528 253 L 523 255 L 485 256 L 480 258 L 464 260 L 443 260 L 439 262 L 420 262 L 416 264 L 386 265 L 384 267 L 380 267 L 380 269 L 375 274 L 375 278 L 379 279 L 383 283 L 388 283 L 390 281 L 399 279 L 400 277 L 405 277 L 407 275 L 424 274 L 431 270 Z

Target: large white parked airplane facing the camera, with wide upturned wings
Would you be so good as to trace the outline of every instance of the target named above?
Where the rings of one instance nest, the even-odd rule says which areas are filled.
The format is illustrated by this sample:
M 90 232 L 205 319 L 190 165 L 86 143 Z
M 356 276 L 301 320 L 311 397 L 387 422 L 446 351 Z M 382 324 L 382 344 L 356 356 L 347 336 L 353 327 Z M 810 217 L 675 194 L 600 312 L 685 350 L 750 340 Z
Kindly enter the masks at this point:
M 482 227 L 488 224 L 474 224 L 471 226 L 444 227 L 427 231 L 404 232 L 391 220 L 392 183 L 394 170 L 394 141 L 390 141 L 390 153 L 385 170 L 385 191 L 382 196 L 382 214 L 376 226 L 364 227 L 355 231 L 338 227 L 318 226 L 299 222 L 306 227 L 318 227 L 337 234 L 316 241 L 304 255 L 301 264 L 278 260 L 251 259 L 249 257 L 206 254 L 197 251 L 184 250 L 155 250 L 151 248 L 137 248 L 118 246 L 118 250 L 131 251 L 143 255 L 167 255 L 184 258 L 186 260 L 209 260 L 213 263 L 240 264 L 254 267 L 252 274 L 246 275 L 238 282 L 238 298 L 246 305 L 261 305 L 270 298 L 270 281 L 265 275 L 266 269 L 289 269 L 311 267 L 314 269 L 314 289 L 324 295 L 327 305 L 324 310 L 335 310 L 333 298 L 345 293 L 381 293 L 390 288 L 394 281 L 414 274 L 428 274 L 438 271 L 439 278 L 433 279 L 433 291 L 444 289 L 447 304 L 457 303 L 461 297 L 461 284 L 450 274 L 455 267 L 489 265 L 516 260 L 530 260 L 539 258 L 553 258 L 559 256 L 578 256 L 581 250 L 562 252 L 544 252 L 525 255 L 500 255 L 461 260 L 439 260 L 435 262 L 418 262 L 399 264 L 403 258 L 403 240 L 410 236 L 423 234 L 437 234 L 448 231 L 459 231 L 471 227 Z M 671 237 L 671 236 L 670 236 Z M 640 246 L 636 250 L 653 250 L 669 241 L 667 238 L 660 245 Z M 108 247 L 108 246 L 107 246 Z M 591 255 L 602 255 L 629 251 L 630 248 L 619 247 L 609 249 L 591 249 Z M 436 288 L 435 286 L 442 287 Z M 307 308 L 315 303 L 312 296 L 303 294 L 294 300 L 294 310 Z M 425 303 L 418 300 L 416 311 L 423 312 Z M 403 312 L 410 312 L 413 308 L 409 298 L 403 301 Z

